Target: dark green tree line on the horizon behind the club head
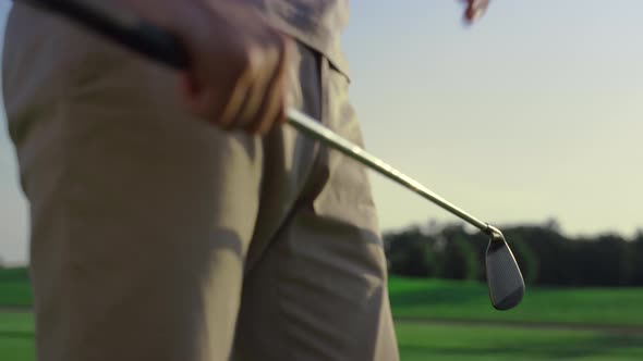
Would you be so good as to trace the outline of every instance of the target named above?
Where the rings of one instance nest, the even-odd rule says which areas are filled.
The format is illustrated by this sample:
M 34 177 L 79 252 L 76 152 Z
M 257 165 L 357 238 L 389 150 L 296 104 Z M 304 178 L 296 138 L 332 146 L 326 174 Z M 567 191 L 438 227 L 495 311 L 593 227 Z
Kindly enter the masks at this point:
M 501 229 L 527 284 L 643 286 L 643 229 L 631 239 L 614 233 L 568 237 L 555 221 Z M 384 242 L 392 275 L 485 279 L 488 239 L 461 224 L 386 232 Z

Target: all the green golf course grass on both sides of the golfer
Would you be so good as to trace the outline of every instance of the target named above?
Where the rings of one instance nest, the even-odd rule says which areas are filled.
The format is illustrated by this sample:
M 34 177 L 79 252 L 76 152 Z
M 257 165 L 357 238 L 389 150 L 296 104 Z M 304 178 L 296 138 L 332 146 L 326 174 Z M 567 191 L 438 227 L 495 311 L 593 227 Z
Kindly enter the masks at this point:
M 523 303 L 507 312 L 492 308 L 484 284 L 391 278 L 389 290 L 404 361 L 643 360 L 643 333 L 558 327 L 643 329 L 641 288 L 530 287 Z M 2 306 L 32 306 L 26 271 L 0 270 Z M 471 321 L 480 323 L 458 324 Z M 34 360 L 31 313 L 0 310 L 0 360 Z

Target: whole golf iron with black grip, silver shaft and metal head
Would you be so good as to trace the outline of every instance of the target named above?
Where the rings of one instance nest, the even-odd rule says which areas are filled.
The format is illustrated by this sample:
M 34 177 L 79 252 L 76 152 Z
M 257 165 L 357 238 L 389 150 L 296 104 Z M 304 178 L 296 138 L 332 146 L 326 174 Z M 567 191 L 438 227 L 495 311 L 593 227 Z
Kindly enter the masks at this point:
M 186 50 L 173 35 L 142 21 L 123 9 L 113 7 L 109 2 L 101 0 L 14 0 L 14 2 L 28 3 L 64 15 L 174 70 L 185 70 L 190 65 Z M 492 304 L 498 310 L 508 310 L 520 303 L 524 295 L 524 281 L 515 258 L 498 228 L 451 204 L 418 182 L 340 137 L 302 112 L 289 109 L 287 117 L 288 124 L 300 133 L 409 188 L 489 236 L 485 262 Z

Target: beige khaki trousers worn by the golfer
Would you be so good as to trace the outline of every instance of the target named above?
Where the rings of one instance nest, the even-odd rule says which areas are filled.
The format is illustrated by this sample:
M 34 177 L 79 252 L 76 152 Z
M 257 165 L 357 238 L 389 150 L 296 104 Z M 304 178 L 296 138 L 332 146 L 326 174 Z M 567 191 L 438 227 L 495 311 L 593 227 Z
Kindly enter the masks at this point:
M 304 46 L 290 75 L 294 107 L 362 144 L 344 75 Z M 192 119 L 175 74 L 24 5 L 3 78 L 38 360 L 398 359 L 362 166 Z

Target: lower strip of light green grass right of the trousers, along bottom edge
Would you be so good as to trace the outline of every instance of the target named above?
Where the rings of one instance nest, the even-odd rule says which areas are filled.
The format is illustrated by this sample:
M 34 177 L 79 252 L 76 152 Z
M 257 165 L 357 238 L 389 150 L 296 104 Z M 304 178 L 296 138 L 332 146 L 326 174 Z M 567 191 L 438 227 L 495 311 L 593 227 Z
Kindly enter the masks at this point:
M 412 322 L 397 333 L 404 361 L 643 360 L 643 335 Z

